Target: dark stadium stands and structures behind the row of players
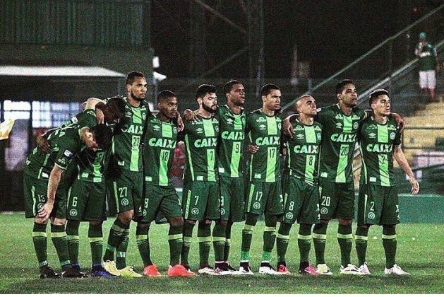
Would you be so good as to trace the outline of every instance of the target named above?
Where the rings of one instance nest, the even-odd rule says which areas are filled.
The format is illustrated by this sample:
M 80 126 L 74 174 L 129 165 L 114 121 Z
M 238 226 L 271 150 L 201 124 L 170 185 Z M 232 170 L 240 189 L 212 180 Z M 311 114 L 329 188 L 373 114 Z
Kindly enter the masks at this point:
M 150 78 L 152 106 L 169 89 L 180 110 L 196 107 L 200 83 L 221 91 L 230 78 L 244 81 L 247 110 L 260 107 L 263 83 L 277 83 L 285 114 L 305 92 L 319 106 L 334 103 L 342 78 L 355 81 L 362 107 L 369 91 L 388 88 L 392 110 L 406 117 L 404 151 L 421 181 L 412 197 L 397 169 L 403 220 L 443 223 L 444 78 L 440 103 L 426 105 L 413 54 L 425 31 L 444 60 L 443 16 L 441 1 L 425 0 L 4 0 L 0 120 L 17 120 L 0 141 L 0 211 L 23 210 L 22 170 L 36 136 L 76 115 L 88 97 L 124 94 L 125 74 L 139 70 Z

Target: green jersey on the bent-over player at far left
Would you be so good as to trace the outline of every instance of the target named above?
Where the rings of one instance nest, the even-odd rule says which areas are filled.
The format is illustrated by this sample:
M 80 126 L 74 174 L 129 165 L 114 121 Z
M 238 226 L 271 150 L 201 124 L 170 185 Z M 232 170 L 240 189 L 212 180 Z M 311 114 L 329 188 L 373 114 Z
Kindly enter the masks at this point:
M 56 129 L 48 136 L 51 144 L 51 153 L 42 153 L 34 148 L 26 159 L 25 171 L 33 177 L 47 180 L 54 165 L 65 170 L 69 163 L 85 147 L 80 140 L 78 126 L 68 126 Z

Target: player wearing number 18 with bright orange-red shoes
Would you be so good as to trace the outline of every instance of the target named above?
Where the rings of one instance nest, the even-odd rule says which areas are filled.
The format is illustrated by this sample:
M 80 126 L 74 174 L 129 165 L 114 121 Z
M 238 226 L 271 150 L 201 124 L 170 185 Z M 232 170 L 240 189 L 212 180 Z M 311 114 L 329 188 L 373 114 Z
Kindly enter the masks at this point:
M 169 222 L 169 268 L 168 276 L 195 276 L 180 264 L 182 250 L 182 231 L 184 218 L 179 197 L 177 196 L 170 169 L 176 148 L 177 128 L 173 120 L 177 117 L 177 96 L 172 91 L 161 91 L 157 95 L 158 115 L 148 115 L 143 149 L 145 175 L 145 199 L 143 216 L 138 219 L 136 240 L 143 260 L 145 276 L 160 276 L 150 258 L 148 232 L 150 223 L 159 211 L 167 216 Z

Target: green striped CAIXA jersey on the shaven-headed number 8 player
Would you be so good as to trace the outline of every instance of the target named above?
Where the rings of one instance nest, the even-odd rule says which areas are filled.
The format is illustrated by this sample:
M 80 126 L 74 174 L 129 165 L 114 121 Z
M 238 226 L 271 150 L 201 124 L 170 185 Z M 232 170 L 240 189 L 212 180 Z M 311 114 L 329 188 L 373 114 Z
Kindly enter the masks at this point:
M 287 158 L 284 174 L 297 177 L 308 185 L 318 183 L 318 163 L 322 126 L 318 122 L 311 125 L 299 120 L 292 122 L 294 136 L 287 139 Z

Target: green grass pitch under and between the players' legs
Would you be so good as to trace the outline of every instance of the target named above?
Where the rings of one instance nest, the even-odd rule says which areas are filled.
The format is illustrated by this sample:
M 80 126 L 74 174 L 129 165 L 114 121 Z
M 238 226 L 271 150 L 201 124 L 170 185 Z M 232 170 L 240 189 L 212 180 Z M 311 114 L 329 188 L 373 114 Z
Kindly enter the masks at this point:
M 114 219 L 104 223 L 104 238 Z M 232 231 L 232 252 L 230 261 L 239 264 L 241 228 L 236 223 Z M 353 227 L 353 230 L 355 230 Z M 167 225 L 152 226 L 150 243 L 152 260 L 160 272 L 165 273 L 168 265 L 169 249 Z M 24 219 L 23 214 L 0 214 L 0 293 L 443 293 L 443 225 L 440 224 L 401 224 L 397 228 L 397 263 L 412 276 L 384 276 L 385 256 L 380 235 L 382 229 L 371 228 L 368 234 L 368 264 L 373 275 L 340 276 L 340 252 L 336 240 L 337 223 L 328 228 L 325 259 L 332 268 L 333 276 L 310 277 L 292 276 L 197 276 L 191 279 L 39 279 L 37 260 L 32 246 L 32 220 Z M 48 228 L 49 229 L 49 228 Z M 257 271 L 262 250 L 263 222 L 258 223 L 253 234 L 251 267 Z M 287 264 L 292 272 L 299 265 L 299 251 L 296 245 L 297 227 L 292 228 Z M 88 224 L 80 226 L 80 264 L 90 267 L 88 244 Z M 127 263 L 136 271 L 143 269 L 136 247 L 135 226 L 131 226 L 130 245 Z M 196 234 L 196 230 L 195 230 Z M 376 237 L 376 239 L 373 239 Z M 56 253 L 51 240 L 48 240 L 49 263 L 59 269 Z M 198 243 L 193 238 L 190 252 L 191 267 L 198 264 Z M 273 262 L 275 262 L 273 251 Z M 210 256 L 210 261 L 212 261 Z M 314 260 L 313 248 L 311 260 Z M 356 252 L 352 250 L 352 261 L 356 264 Z M 275 263 L 273 263 L 275 265 Z

